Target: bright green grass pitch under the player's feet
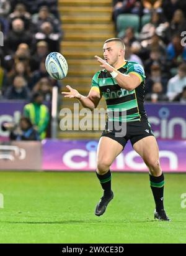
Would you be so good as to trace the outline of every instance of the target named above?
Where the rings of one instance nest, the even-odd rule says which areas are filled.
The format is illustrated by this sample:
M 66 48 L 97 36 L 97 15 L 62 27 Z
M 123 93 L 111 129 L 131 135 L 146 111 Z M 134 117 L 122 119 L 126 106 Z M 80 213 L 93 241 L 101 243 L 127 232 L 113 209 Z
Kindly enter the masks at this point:
M 113 173 L 115 198 L 94 216 L 102 196 L 95 173 L 1 172 L 1 243 L 185 243 L 186 174 L 165 174 L 171 222 L 153 219 L 148 173 Z

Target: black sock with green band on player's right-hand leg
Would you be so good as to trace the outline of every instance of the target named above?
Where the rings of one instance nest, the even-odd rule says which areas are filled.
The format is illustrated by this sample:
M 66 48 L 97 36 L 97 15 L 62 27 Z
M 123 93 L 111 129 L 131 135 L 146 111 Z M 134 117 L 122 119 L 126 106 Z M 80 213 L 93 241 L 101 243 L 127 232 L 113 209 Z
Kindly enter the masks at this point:
M 164 210 L 164 174 L 159 177 L 150 176 L 151 189 L 153 191 L 156 211 Z

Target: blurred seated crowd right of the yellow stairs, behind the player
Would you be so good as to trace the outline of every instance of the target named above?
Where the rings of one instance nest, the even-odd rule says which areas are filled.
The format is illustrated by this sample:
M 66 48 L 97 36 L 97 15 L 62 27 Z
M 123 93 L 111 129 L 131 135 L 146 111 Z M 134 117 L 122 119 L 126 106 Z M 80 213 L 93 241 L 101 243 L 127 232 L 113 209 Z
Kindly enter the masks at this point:
M 144 66 L 145 99 L 186 103 L 186 1 L 113 0 L 112 17 L 125 59 Z M 121 22 L 131 25 L 120 30 Z

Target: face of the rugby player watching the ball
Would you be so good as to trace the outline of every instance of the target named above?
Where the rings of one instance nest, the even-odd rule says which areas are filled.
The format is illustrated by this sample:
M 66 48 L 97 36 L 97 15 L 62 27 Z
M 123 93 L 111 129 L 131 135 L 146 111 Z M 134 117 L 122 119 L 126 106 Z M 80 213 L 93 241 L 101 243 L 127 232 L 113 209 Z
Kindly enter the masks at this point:
M 114 65 L 118 62 L 118 57 L 121 54 L 121 49 L 117 42 L 108 42 L 104 44 L 104 59 L 110 65 Z

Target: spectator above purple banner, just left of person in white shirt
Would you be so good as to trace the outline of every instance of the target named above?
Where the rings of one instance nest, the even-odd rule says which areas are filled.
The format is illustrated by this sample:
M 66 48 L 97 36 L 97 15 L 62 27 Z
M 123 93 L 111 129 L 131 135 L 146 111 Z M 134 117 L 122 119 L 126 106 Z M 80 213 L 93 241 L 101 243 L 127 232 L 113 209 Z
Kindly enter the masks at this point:
M 162 84 L 159 82 L 153 83 L 152 92 L 145 96 L 145 100 L 150 102 L 163 102 L 167 101 L 168 97 L 163 93 Z

